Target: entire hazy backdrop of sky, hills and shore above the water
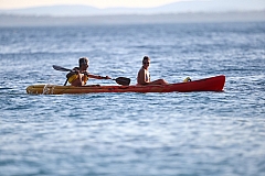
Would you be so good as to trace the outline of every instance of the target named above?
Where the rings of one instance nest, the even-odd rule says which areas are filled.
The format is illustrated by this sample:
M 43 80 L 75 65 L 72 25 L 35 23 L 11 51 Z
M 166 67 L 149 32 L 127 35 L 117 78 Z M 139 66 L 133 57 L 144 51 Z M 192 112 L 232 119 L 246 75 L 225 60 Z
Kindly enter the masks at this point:
M 242 21 L 265 21 L 265 1 L 0 1 L 0 26 Z

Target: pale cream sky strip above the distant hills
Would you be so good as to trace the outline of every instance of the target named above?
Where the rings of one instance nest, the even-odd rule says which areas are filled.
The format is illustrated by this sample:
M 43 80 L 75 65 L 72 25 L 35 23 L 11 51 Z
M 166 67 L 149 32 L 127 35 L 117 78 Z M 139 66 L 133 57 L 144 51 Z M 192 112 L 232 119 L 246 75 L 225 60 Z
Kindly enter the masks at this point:
M 20 9 L 54 4 L 85 4 L 95 8 L 153 8 L 184 0 L 0 0 L 0 9 Z

